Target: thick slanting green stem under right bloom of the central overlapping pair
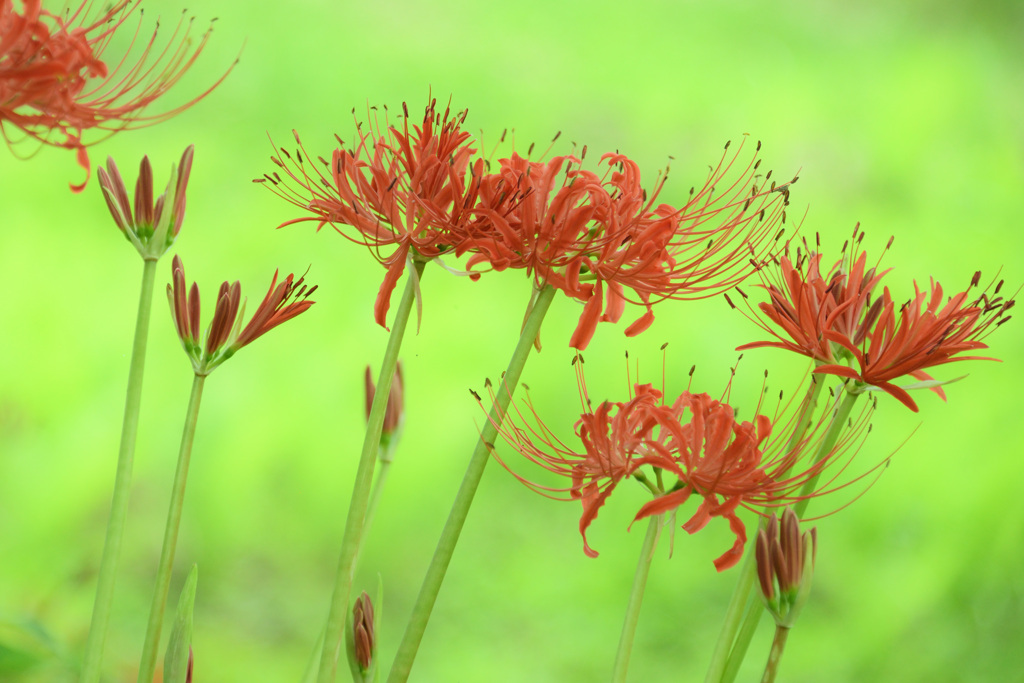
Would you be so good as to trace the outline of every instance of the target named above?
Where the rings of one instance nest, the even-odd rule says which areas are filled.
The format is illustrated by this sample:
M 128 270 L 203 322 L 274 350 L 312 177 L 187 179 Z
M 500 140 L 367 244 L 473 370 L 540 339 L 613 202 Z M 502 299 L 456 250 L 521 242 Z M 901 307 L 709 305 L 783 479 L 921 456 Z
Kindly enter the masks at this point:
M 427 574 L 423 580 L 420 595 L 416 599 L 416 605 L 413 607 L 413 613 L 409 618 L 409 624 L 406 626 L 406 633 L 401 638 L 401 643 L 398 645 L 398 652 L 395 654 L 391 673 L 388 675 L 388 683 L 403 683 L 409 678 L 413 661 L 416 659 L 416 652 L 420 647 L 420 641 L 423 639 L 427 622 L 430 620 L 430 612 L 433 609 L 434 602 L 437 600 L 437 592 L 444 581 L 444 573 L 447 570 L 449 563 L 452 561 L 452 554 L 455 552 L 455 546 L 459 542 L 459 535 L 462 532 L 462 526 L 469 514 L 469 507 L 473 503 L 476 487 L 480 483 L 480 477 L 483 476 L 483 469 L 487 461 L 490 460 L 490 446 L 488 444 L 493 443 L 498 436 L 498 427 L 501 425 L 505 417 L 505 412 L 508 410 L 509 402 L 512 399 L 512 392 L 519 383 L 519 377 L 522 375 L 522 369 L 526 365 L 526 358 L 529 356 L 534 340 L 537 339 L 537 335 L 541 330 L 541 323 L 544 319 L 545 313 L 548 312 L 548 307 L 551 305 L 554 295 L 554 288 L 545 286 L 537 297 L 537 300 L 532 302 L 529 317 L 526 319 L 526 324 L 522 328 L 522 333 L 519 335 L 519 343 L 516 344 L 515 351 L 512 353 L 512 359 L 509 361 L 508 370 L 505 371 L 505 377 L 498 388 L 495 404 L 490 409 L 489 419 L 483 426 L 480 439 L 476 442 L 476 449 L 473 451 L 469 466 L 466 468 L 466 475 L 463 477 L 462 485 L 459 487 L 459 493 L 456 495 L 455 502 L 452 505 L 452 512 L 449 514 L 444 529 L 441 531 L 441 538 L 437 542 L 437 549 L 434 551 L 433 559 L 431 559 L 430 566 L 427 568 Z M 377 386 L 389 385 L 378 384 Z

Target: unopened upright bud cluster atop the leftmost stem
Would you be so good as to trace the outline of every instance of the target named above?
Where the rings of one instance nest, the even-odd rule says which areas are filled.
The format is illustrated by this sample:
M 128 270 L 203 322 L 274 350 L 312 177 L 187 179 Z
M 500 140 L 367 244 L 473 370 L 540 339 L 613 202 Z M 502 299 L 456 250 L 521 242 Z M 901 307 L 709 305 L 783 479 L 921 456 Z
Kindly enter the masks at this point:
M 134 212 L 114 160 L 108 158 L 106 168 L 99 168 L 99 186 L 103 190 L 103 199 L 114 216 L 114 222 L 146 261 L 156 261 L 163 256 L 181 231 L 181 222 L 185 216 L 185 188 L 191 173 L 194 151 L 194 145 L 189 144 L 181 155 L 181 163 L 177 169 L 171 167 L 171 180 L 156 203 L 153 201 L 153 167 L 150 165 L 150 158 L 142 157 L 138 180 L 135 182 Z

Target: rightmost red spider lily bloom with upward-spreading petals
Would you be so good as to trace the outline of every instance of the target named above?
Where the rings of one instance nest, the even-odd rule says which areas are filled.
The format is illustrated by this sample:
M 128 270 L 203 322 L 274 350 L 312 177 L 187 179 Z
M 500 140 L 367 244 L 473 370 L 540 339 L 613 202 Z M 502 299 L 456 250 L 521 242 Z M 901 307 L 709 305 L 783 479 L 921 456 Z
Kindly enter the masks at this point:
M 972 298 L 971 290 L 981 279 L 976 272 L 967 290 L 945 299 L 942 286 L 934 280 L 927 289 L 914 283 L 913 298 L 897 305 L 888 287 L 878 292 L 889 271 L 880 271 L 877 265 L 867 268 L 864 252 L 854 259 L 862 239 L 858 226 L 827 274 L 821 273 L 819 244 L 807 253 L 798 249 L 795 259 L 786 253 L 776 260 L 777 268 L 763 269 L 770 302 L 758 308 L 772 325 L 757 315 L 754 319 L 777 341 L 753 342 L 738 349 L 772 346 L 801 353 L 815 360 L 815 373 L 878 387 L 916 412 L 918 404 L 906 390 L 913 387 L 898 386 L 894 380 L 908 375 L 921 381 L 918 387 L 945 398 L 942 383 L 925 369 L 956 360 L 994 360 L 959 354 L 987 348 L 981 339 L 1010 319 L 1004 314 L 1014 300 L 999 295 L 1002 281 L 991 294 L 986 289 Z M 772 274 L 778 282 L 771 282 Z

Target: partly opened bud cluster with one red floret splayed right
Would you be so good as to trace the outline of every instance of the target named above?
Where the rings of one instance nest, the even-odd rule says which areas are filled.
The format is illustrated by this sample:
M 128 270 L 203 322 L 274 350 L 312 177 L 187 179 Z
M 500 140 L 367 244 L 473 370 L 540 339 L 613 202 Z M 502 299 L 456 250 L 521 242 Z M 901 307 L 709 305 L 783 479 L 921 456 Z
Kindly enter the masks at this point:
M 316 291 L 316 286 L 307 289 L 303 284 L 305 279 L 295 280 L 292 273 L 279 283 L 278 272 L 274 271 L 270 289 L 252 319 L 243 328 L 245 301 L 242 300 L 242 288 L 238 281 L 230 285 L 225 282 L 217 293 L 213 319 L 203 343 L 200 336 L 199 286 L 193 283 L 186 293 L 184 265 L 178 256 L 171 264 L 171 279 L 172 284 L 167 286 L 171 317 L 196 374 L 203 376 L 209 375 L 243 346 L 304 312 L 313 305 L 309 297 Z

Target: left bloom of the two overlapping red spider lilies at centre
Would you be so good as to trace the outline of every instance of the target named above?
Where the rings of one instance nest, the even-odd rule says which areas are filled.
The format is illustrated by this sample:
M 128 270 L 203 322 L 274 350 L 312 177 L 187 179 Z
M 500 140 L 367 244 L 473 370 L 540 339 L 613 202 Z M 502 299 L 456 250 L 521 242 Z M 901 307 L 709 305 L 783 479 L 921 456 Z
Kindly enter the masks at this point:
M 374 306 L 375 319 L 385 328 L 391 293 L 407 261 L 438 257 L 459 241 L 453 234 L 466 211 L 467 171 L 475 152 L 469 133 L 461 129 L 466 111 L 453 116 L 445 109 L 441 115 L 437 101 L 431 99 L 422 125 L 413 131 L 404 105 L 403 112 L 401 129 L 388 126 L 382 131 L 379 124 L 369 132 L 360 128 L 351 150 L 339 138 L 341 146 L 330 163 L 318 158 L 324 169 L 307 165 L 309 155 L 293 131 L 299 145 L 295 155 L 282 148 L 279 157 L 271 158 L 287 179 L 274 173 L 256 180 L 268 181 L 279 196 L 312 214 L 282 227 L 315 221 L 319 229 L 330 223 L 342 236 L 371 249 L 387 268 Z M 477 160 L 470 178 L 479 176 L 482 163 Z M 356 234 L 346 232 L 343 225 L 355 228 Z M 382 253 L 392 246 L 394 251 Z

